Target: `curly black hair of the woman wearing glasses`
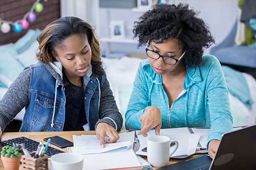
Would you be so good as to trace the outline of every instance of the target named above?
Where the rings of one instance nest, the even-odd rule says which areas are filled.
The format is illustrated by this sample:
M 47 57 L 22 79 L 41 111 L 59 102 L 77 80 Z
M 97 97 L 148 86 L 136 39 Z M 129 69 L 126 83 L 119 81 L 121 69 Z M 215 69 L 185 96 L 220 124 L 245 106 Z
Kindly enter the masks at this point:
M 184 43 L 185 63 L 189 66 L 198 65 L 202 61 L 203 48 L 215 43 L 208 26 L 203 19 L 197 17 L 188 4 L 155 5 L 135 22 L 134 38 L 139 38 L 138 47 L 148 40 L 162 43 L 170 37 Z

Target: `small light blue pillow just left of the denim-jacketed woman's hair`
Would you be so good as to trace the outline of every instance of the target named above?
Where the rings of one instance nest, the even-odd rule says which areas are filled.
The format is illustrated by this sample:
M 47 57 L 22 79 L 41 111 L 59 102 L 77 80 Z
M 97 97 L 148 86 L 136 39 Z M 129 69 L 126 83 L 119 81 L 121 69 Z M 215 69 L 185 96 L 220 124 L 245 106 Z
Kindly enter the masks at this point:
M 17 54 L 26 51 L 40 34 L 40 30 L 28 30 L 28 32 L 13 44 Z

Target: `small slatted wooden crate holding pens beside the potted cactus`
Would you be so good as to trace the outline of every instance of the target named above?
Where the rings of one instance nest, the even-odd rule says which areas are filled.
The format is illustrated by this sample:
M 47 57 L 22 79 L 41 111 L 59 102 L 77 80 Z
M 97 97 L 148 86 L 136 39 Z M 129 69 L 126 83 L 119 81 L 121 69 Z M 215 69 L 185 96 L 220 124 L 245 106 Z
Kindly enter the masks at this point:
M 35 152 L 31 152 L 32 158 L 25 155 L 22 156 L 22 170 L 48 170 L 48 155 L 34 158 Z

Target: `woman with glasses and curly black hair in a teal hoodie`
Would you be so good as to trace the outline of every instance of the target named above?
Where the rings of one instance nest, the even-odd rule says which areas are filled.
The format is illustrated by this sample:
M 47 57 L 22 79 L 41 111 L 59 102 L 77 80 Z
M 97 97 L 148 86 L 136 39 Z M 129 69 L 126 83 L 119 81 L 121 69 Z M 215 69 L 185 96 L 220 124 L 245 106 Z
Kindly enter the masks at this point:
M 223 133 L 232 130 L 228 91 L 221 65 L 203 48 L 214 43 L 204 21 L 188 5 L 161 4 L 135 23 L 139 46 L 146 45 L 125 114 L 126 129 L 210 127 L 214 157 Z

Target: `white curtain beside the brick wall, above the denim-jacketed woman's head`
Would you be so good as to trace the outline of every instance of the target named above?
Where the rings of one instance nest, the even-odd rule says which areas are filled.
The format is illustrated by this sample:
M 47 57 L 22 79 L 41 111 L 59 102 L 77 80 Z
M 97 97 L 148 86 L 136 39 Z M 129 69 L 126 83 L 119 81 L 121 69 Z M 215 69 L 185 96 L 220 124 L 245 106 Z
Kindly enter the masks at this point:
M 90 0 L 61 0 L 60 16 L 76 16 L 88 20 L 90 15 Z

